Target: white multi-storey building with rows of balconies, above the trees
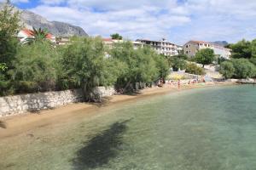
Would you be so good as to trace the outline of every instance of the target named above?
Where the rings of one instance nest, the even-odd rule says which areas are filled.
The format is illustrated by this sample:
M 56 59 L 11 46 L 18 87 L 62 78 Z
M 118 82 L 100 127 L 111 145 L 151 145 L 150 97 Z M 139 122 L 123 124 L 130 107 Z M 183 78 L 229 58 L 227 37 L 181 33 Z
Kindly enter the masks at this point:
M 172 42 L 167 42 L 166 39 L 161 39 L 160 41 L 152 41 L 152 40 L 145 40 L 145 39 L 137 39 L 136 42 L 141 42 L 143 46 L 148 45 L 158 54 L 164 54 L 168 56 L 177 55 L 179 52 L 179 48 L 176 44 Z

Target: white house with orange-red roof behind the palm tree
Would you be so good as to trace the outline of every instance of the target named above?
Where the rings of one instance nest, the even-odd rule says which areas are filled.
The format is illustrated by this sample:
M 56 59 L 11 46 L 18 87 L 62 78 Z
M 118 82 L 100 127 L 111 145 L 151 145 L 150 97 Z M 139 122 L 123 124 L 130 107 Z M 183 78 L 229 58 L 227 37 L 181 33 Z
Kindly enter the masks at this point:
M 18 35 L 17 35 L 18 39 L 20 40 L 21 43 L 26 43 L 26 39 L 27 38 L 33 38 L 33 31 L 29 30 L 29 29 L 23 29 L 20 30 Z M 50 41 L 50 42 L 56 42 L 55 41 L 55 36 L 48 33 L 46 35 L 46 38 Z

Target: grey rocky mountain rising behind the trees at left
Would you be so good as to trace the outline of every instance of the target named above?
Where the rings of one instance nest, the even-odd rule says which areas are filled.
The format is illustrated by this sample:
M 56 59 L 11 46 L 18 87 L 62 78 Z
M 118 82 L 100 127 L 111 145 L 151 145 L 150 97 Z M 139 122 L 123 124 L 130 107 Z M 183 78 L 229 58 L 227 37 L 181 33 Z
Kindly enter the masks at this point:
M 0 10 L 1 8 L 3 8 L 3 3 L 0 3 Z M 32 27 L 38 29 L 41 27 L 43 29 L 47 29 L 51 34 L 55 35 L 56 37 L 88 36 L 83 28 L 79 26 L 73 26 L 71 24 L 59 21 L 49 21 L 43 16 L 32 13 L 28 10 L 21 10 L 19 8 L 15 8 L 15 10 L 20 11 L 21 24 L 28 29 L 32 29 Z

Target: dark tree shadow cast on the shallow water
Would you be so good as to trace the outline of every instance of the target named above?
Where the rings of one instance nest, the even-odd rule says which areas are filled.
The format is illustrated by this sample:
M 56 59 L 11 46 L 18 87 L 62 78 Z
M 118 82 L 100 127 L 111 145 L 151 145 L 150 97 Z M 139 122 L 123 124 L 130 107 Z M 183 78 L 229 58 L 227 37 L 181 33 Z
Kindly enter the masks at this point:
M 77 156 L 72 160 L 73 169 L 84 170 L 108 164 L 121 150 L 122 134 L 127 130 L 126 123 L 130 121 L 115 122 L 107 130 L 84 143 L 84 147 L 77 151 Z

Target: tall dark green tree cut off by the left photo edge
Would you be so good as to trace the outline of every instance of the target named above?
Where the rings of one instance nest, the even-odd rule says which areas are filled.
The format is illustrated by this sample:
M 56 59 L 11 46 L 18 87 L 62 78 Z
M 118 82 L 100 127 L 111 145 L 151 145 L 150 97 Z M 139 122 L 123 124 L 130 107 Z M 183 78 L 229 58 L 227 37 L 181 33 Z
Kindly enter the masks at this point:
M 0 9 L 0 95 L 9 94 L 12 83 L 8 71 L 13 68 L 18 40 L 15 37 L 20 29 L 20 13 L 15 11 L 10 1 Z

